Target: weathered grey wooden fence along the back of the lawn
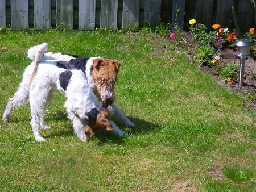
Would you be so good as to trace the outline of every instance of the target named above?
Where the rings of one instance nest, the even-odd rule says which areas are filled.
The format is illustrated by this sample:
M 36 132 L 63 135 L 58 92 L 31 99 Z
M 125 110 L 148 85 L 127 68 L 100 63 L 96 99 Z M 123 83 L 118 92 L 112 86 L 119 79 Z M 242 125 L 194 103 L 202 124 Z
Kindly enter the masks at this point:
M 235 0 L 242 31 L 255 27 L 253 0 Z M 232 0 L 0 0 L 0 27 L 13 29 L 152 27 L 160 22 L 187 28 L 189 19 L 234 27 Z

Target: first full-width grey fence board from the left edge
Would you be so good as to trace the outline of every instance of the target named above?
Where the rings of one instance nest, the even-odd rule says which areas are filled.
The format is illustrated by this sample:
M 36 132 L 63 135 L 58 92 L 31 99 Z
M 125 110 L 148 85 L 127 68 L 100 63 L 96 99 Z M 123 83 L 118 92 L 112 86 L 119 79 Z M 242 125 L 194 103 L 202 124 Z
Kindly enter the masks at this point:
M 28 0 L 11 0 L 11 27 L 28 28 Z

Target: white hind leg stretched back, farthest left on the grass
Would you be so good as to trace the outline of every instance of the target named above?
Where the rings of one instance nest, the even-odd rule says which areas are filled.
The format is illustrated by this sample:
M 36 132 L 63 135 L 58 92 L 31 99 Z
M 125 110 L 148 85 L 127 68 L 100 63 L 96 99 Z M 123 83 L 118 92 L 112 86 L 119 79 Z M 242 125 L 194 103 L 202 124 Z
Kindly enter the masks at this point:
M 9 120 L 10 112 L 15 108 L 24 105 L 28 102 L 28 95 L 30 93 L 30 84 L 26 76 L 23 77 L 22 82 L 19 85 L 18 91 L 14 94 L 13 98 L 9 99 L 5 112 L 3 113 L 3 122 Z

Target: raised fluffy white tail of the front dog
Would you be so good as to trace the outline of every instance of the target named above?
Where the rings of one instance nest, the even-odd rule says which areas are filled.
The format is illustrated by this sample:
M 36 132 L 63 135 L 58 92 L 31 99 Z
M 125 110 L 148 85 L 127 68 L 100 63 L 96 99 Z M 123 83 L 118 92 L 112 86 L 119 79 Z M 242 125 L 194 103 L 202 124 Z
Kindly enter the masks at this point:
M 33 78 L 36 75 L 36 72 L 38 70 L 39 62 L 42 61 L 43 55 L 47 51 L 48 51 L 48 44 L 47 43 L 42 43 L 40 45 L 36 45 L 36 46 L 31 47 L 30 49 L 28 49 L 27 56 L 35 64 L 34 70 L 32 72 L 31 78 L 30 78 L 30 83 L 32 82 Z

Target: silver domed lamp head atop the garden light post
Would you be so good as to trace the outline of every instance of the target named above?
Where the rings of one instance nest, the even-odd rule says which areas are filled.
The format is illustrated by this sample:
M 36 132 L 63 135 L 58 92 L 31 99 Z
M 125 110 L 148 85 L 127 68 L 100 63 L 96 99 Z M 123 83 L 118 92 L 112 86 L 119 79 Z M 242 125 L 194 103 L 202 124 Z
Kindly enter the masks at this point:
M 238 57 L 246 57 L 250 55 L 250 47 L 253 46 L 253 42 L 249 39 L 238 39 L 234 45 L 237 46 L 236 55 Z

